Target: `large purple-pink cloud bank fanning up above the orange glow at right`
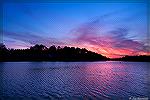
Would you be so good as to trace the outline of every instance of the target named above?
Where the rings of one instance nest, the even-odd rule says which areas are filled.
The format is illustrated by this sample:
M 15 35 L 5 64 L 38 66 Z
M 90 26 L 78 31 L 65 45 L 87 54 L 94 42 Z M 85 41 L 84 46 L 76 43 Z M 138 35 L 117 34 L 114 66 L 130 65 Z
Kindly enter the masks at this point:
M 102 23 L 99 22 L 96 19 L 76 28 L 73 41 L 110 58 L 125 55 L 150 55 L 150 47 L 146 46 L 146 43 L 127 38 L 130 34 L 129 29 L 114 28 L 103 33 Z

